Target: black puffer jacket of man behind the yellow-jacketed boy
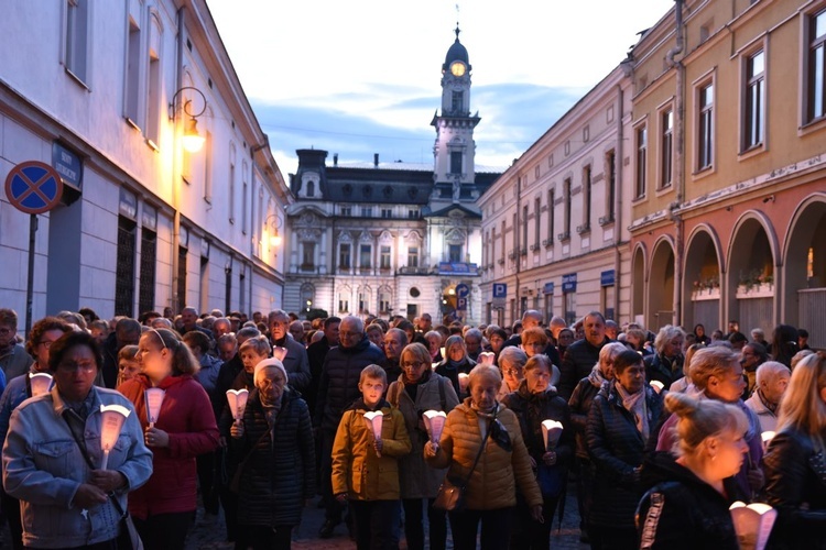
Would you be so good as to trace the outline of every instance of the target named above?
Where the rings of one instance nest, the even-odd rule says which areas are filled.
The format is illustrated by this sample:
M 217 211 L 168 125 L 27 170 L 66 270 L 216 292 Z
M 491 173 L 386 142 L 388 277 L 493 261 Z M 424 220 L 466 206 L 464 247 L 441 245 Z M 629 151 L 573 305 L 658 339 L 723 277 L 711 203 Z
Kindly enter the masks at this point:
M 361 396 L 359 377 L 367 365 L 379 365 L 384 352 L 365 336 L 352 348 L 330 348 L 324 359 L 316 399 L 316 426 L 335 433 L 344 410 Z

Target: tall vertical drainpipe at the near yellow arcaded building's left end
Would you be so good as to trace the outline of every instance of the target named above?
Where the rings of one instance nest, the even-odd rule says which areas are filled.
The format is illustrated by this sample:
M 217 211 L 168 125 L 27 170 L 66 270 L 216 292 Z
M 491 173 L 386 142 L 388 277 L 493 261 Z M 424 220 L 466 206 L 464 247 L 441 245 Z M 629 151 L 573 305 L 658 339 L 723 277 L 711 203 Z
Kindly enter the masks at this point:
M 674 251 L 674 323 L 683 322 L 683 264 L 685 261 L 684 230 L 685 222 L 678 213 L 678 208 L 685 199 L 685 66 L 675 57 L 683 53 L 683 1 L 674 0 L 675 42 L 665 58 L 670 67 L 676 72 L 674 100 L 674 189 L 676 197 L 671 204 L 671 220 L 675 230 Z

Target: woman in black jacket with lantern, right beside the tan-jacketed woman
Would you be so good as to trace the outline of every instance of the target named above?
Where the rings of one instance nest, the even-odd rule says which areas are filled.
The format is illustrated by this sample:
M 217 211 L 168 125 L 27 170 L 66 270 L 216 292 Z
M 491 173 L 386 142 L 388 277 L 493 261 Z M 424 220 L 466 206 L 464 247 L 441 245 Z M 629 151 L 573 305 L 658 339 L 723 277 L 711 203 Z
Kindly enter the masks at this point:
M 547 549 L 551 543 L 551 524 L 554 510 L 567 482 L 567 470 L 574 457 L 574 433 L 570 414 L 565 399 L 551 385 L 553 363 L 543 354 L 536 354 L 525 363 L 525 380 L 519 389 L 509 394 L 502 405 L 515 413 L 522 438 L 525 441 L 531 465 L 542 492 L 543 522 L 531 520 L 528 503 L 517 493 L 517 529 L 511 535 L 511 548 Z M 559 440 L 548 447 L 542 422 L 556 420 L 562 424 Z

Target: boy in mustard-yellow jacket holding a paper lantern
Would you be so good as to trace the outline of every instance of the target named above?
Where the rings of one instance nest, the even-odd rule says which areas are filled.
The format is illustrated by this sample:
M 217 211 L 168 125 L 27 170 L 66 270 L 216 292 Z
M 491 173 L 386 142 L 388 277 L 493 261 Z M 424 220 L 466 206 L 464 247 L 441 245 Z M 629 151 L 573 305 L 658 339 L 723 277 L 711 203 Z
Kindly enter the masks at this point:
M 333 494 L 349 499 L 359 550 L 398 549 L 401 501 L 399 459 L 410 452 L 404 417 L 383 399 L 388 377 L 379 365 L 361 371 L 361 398 L 348 408 L 333 444 Z M 381 438 L 365 414 L 382 413 Z

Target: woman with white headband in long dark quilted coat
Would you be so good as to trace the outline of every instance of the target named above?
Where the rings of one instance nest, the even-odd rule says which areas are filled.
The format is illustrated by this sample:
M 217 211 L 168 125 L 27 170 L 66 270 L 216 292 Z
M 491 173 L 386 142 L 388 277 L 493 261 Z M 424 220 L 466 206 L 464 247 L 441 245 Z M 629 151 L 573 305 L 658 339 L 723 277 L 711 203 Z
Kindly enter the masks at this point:
M 304 502 L 315 495 L 315 451 L 307 404 L 286 385 L 278 359 L 256 365 L 243 417 L 230 428 L 236 548 L 290 548 Z

